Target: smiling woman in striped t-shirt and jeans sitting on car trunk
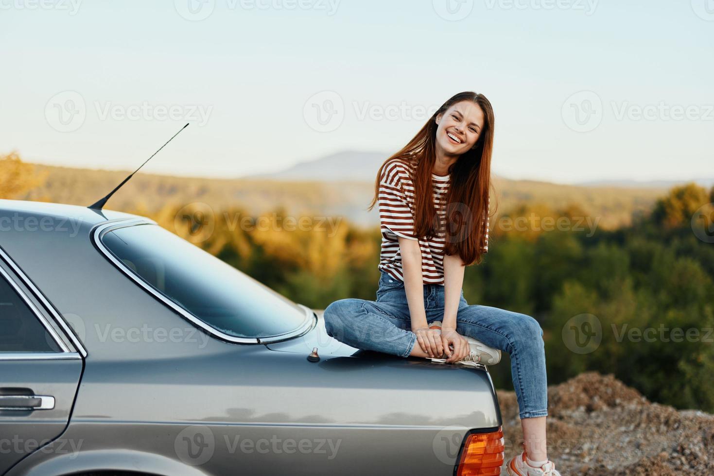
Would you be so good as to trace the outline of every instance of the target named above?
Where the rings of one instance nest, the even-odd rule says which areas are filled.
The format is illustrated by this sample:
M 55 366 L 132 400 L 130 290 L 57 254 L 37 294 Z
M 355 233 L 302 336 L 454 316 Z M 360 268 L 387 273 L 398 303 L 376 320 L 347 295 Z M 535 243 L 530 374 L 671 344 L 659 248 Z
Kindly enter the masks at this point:
M 473 365 L 508 352 L 525 440 L 508 474 L 558 476 L 545 450 L 543 330 L 529 315 L 468 305 L 461 289 L 465 266 L 488 251 L 493 119 L 485 96 L 458 93 L 382 164 L 369 206 L 378 201 L 382 231 L 377 300 L 338 300 L 325 325 L 352 347 L 401 357 Z

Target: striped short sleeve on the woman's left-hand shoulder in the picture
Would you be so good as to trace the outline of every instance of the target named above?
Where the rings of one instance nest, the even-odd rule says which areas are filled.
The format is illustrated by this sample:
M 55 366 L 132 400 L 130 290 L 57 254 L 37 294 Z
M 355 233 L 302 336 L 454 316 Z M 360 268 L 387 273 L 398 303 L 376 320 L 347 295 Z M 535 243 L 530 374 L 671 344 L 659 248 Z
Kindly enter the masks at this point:
M 403 174 L 406 170 L 395 163 L 383 167 L 379 180 L 379 228 L 396 236 L 417 240 L 414 235 L 414 216 L 404 193 Z

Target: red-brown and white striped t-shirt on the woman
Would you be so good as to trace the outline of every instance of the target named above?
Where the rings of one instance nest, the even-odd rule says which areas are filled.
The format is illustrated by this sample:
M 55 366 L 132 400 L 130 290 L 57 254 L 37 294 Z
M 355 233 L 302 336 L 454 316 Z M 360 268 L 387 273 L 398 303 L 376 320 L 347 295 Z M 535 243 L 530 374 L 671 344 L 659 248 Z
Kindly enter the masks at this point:
M 424 284 L 444 285 L 443 255 L 446 232 L 426 239 L 414 234 L 414 187 L 410 172 L 413 166 L 406 160 L 393 158 L 386 163 L 379 178 L 379 221 L 382 245 L 378 268 L 394 278 L 403 281 L 401 250 L 398 236 L 418 240 L 421 249 L 421 273 Z M 451 183 L 450 176 L 431 174 L 433 183 L 433 203 L 443 228 L 446 221 L 446 193 Z M 488 251 L 488 211 L 484 233 L 483 253 Z

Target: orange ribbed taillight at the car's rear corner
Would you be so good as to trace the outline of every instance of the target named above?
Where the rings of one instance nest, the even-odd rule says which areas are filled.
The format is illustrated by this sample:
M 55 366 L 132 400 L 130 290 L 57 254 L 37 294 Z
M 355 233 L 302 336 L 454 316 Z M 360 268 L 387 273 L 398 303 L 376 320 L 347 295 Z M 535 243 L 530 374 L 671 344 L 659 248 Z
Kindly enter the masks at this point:
M 503 465 L 503 429 L 471 433 L 458 461 L 456 476 L 498 476 Z

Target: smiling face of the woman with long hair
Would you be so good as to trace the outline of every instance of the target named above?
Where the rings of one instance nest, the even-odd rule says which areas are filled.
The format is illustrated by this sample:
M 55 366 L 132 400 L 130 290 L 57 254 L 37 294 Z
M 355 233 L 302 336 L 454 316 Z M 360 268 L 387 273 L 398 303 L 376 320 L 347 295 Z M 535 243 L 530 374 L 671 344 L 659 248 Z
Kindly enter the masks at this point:
M 461 155 L 476 145 L 483 129 L 483 111 L 473 101 L 461 101 L 436 116 L 436 143 L 449 155 Z

